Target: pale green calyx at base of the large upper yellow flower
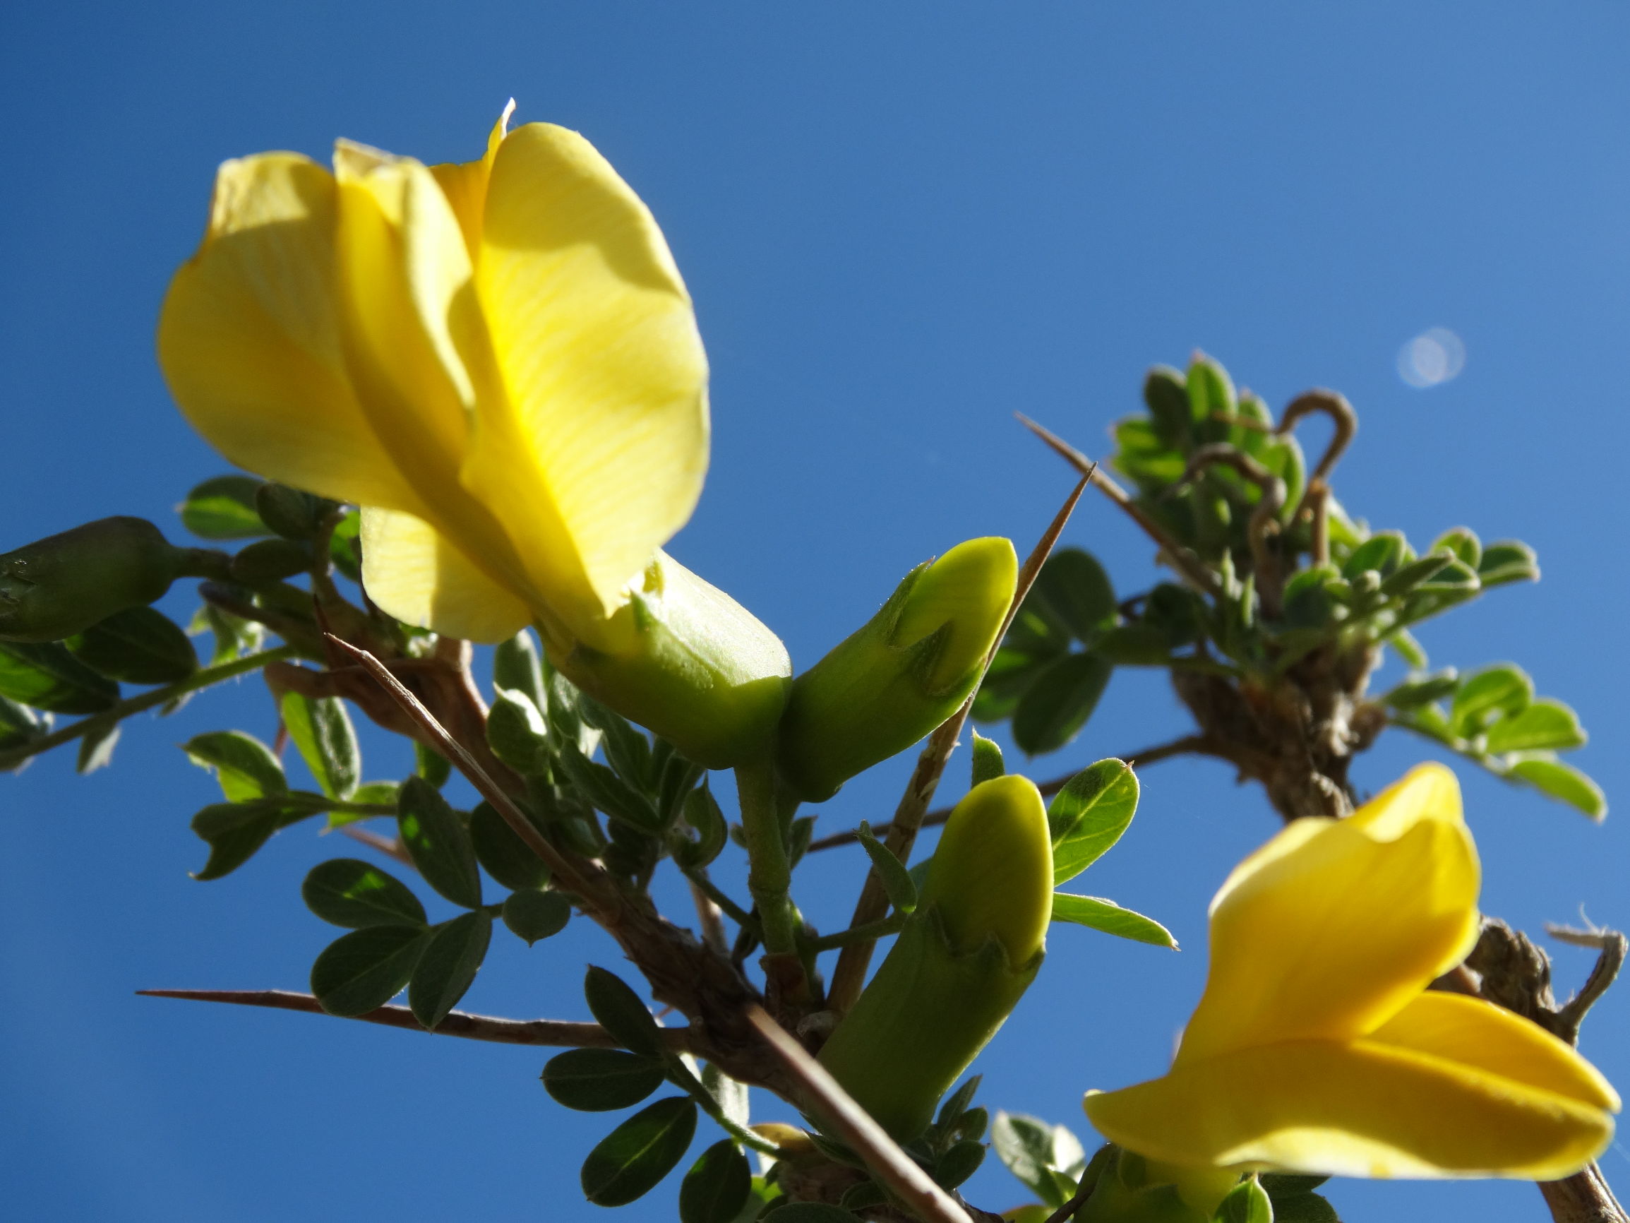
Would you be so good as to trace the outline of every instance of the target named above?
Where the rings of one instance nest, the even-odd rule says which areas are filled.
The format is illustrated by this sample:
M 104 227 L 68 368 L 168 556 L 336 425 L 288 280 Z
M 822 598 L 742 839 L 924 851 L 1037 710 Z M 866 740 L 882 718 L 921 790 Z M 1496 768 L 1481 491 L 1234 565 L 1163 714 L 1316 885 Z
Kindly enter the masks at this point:
M 763 758 L 787 698 L 781 638 L 665 553 L 611 618 L 611 649 L 549 660 L 566 678 L 706 768 Z

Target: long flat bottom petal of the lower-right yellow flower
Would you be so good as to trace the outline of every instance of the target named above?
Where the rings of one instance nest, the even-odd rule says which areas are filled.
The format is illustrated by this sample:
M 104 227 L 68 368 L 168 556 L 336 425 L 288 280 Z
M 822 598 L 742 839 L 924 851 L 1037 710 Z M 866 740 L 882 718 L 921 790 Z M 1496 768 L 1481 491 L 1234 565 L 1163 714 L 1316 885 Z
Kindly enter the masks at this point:
M 1364 1177 L 1552 1181 L 1612 1140 L 1599 1107 L 1368 1040 L 1195 1058 L 1089 1094 L 1104 1137 L 1152 1159 Z

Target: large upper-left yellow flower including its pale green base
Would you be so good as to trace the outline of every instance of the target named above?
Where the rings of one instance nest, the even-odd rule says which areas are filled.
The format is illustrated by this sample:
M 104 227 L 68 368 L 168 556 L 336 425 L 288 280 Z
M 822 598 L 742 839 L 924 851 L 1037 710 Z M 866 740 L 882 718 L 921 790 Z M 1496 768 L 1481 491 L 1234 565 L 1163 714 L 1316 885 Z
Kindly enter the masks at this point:
M 466 165 L 346 140 L 333 173 L 297 153 L 222 165 L 165 300 L 165 377 L 231 461 L 363 507 L 363 582 L 398 620 L 473 641 L 535 623 L 562 670 L 654 729 L 735 716 L 758 734 L 786 651 L 659 551 L 707 468 L 689 294 L 584 137 L 509 114 Z M 672 691 L 644 709 L 652 683 L 714 706 L 747 691 L 750 713 Z M 698 757 L 735 753 L 712 747 Z

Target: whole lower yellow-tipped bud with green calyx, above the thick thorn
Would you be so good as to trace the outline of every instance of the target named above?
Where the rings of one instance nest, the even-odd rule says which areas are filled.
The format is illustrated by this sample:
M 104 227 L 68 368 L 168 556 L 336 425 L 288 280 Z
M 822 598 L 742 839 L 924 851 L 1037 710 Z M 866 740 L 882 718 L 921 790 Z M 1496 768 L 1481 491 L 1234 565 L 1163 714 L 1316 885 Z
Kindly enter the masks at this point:
M 1042 967 L 1053 845 L 1027 778 L 957 804 L 918 908 L 820 1060 L 900 1141 L 927 1128 Z

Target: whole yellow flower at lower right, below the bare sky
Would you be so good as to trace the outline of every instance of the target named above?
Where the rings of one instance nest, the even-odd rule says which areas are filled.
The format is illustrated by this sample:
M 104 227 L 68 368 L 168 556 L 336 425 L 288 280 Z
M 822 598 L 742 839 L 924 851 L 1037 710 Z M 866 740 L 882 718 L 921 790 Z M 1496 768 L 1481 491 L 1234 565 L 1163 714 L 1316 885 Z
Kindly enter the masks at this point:
M 1477 848 L 1423 765 L 1345 820 L 1296 820 L 1211 902 L 1211 974 L 1164 1078 L 1089 1093 L 1112 1141 L 1192 1168 L 1548 1181 L 1619 1096 L 1493 1003 L 1428 991 L 1477 939 Z

